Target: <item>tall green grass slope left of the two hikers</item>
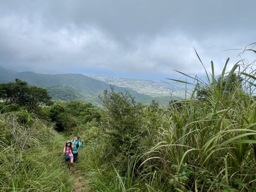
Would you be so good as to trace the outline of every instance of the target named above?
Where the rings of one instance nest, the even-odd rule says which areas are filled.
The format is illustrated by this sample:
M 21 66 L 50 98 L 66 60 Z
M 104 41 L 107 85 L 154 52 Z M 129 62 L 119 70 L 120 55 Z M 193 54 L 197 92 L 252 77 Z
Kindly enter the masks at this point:
M 50 125 L 26 111 L 12 112 L 0 114 L 0 130 L 1 192 L 72 191 L 62 163 L 64 138 Z

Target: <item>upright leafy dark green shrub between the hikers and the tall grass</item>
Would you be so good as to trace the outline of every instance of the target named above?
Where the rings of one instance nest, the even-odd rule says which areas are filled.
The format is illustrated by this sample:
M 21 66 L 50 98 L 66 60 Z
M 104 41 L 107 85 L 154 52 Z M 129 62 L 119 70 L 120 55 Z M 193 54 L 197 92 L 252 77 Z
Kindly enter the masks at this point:
M 113 86 L 111 92 L 105 90 L 100 99 L 108 110 L 102 120 L 103 127 L 108 129 L 110 142 L 114 150 L 120 152 L 119 160 L 123 161 L 127 156 L 134 155 L 140 146 L 143 106 L 137 104 L 128 91 L 116 93 Z

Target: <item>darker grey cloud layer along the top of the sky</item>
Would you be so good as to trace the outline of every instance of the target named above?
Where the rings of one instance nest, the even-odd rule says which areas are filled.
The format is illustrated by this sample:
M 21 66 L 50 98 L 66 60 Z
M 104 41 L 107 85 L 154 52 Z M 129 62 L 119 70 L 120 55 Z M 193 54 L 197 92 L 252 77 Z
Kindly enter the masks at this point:
M 96 25 L 115 38 L 156 35 L 159 31 L 173 29 L 207 34 L 234 28 L 242 30 L 248 23 L 253 29 L 256 5 L 253 0 L 25 0 L 2 4 L 2 15 L 39 18 L 53 30 L 68 23 Z

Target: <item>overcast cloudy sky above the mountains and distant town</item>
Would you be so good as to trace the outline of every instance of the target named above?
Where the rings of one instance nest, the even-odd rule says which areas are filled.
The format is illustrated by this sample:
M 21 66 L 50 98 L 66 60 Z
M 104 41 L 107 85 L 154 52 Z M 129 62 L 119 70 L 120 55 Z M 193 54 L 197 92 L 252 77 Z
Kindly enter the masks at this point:
M 164 80 L 227 70 L 256 42 L 256 0 L 1 0 L 0 66 Z M 195 49 L 194 49 L 195 48 Z M 227 50 L 227 51 L 224 51 Z M 252 61 L 252 53 L 242 55 Z

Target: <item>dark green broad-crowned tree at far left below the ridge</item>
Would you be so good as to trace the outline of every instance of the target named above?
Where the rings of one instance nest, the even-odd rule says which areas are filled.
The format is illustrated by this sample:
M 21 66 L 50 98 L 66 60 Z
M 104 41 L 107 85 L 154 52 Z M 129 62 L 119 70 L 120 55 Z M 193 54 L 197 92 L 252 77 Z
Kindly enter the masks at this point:
M 34 109 L 38 105 L 51 105 L 51 96 L 46 89 L 29 86 L 26 81 L 15 79 L 15 82 L 0 84 L 0 100 L 6 105 L 17 104 Z

